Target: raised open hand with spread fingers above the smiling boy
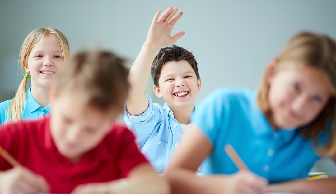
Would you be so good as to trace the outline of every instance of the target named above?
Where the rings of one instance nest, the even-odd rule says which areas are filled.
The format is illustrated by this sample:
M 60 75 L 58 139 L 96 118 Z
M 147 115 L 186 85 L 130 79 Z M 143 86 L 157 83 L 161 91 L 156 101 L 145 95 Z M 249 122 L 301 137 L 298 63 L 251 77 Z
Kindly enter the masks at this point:
M 170 33 L 177 22 L 182 16 L 182 12 L 175 15 L 177 12 L 177 7 L 174 9 L 169 7 L 160 16 L 161 10 L 156 12 L 151 27 L 148 31 L 146 44 L 154 49 L 161 49 L 173 45 L 179 38 L 181 38 L 185 33 L 180 31 L 175 36 L 171 37 Z M 175 16 L 174 16 L 175 15 Z M 159 17 L 160 16 L 160 17 Z

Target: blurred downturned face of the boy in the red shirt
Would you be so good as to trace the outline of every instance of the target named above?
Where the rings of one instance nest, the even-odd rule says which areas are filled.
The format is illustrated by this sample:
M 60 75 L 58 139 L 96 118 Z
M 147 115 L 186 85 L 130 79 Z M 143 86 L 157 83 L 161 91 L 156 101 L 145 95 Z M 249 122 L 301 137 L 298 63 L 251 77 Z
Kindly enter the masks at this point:
M 118 114 L 85 106 L 80 94 L 70 93 L 60 94 L 53 100 L 50 130 L 58 151 L 77 162 L 109 133 Z

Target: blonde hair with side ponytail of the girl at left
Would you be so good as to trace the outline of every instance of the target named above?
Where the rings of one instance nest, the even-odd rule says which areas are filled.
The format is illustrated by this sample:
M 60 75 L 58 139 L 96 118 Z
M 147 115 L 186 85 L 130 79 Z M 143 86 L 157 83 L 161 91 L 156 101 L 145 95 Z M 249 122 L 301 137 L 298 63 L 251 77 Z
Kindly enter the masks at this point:
M 70 46 L 67 37 L 55 28 L 37 28 L 29 33 L 29 35 L 26 37 L 25 41 L 22 44 L 20 50 L 20 64 L 22 69 L 25 69 L 24 61 L 27 61 L 27 58 L 32 48 L 37 44 L 39 40 L 41 40 L 44 36 L 48 34 L 53 34 L 58 38 L 63 55 L 63 61 L 67 61 L 70 55 Z M 11 118 L 11 122 L 17 122 L 23 115 L 24 107 L 26 105 L 27 80 L 28 79 L 24 77 L 19 87 L 17 88 L 13 101 L 8 107 L 7 121 L 9 121 Z

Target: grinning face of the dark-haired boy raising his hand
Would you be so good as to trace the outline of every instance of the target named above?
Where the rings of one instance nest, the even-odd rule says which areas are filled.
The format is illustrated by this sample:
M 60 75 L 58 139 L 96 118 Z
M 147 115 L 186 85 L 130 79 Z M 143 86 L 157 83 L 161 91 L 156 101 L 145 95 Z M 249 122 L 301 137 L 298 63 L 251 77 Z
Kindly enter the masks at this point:
M 186 60 L 169 61 L 161 69 L 159 86 L 153 90 L 163 98 L 171 109 L 194 107 L 197 93 L 201 89 L 201 79 Z

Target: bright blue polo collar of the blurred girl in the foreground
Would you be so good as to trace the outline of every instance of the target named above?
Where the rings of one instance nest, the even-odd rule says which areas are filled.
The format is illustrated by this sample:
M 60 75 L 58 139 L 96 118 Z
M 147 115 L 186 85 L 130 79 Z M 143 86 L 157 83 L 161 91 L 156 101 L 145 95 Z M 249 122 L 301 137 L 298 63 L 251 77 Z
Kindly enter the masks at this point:
M 253 92 L 252 98 L 250 99 L 251 105 L 252 105 L 252 111 L 251 111 L 251 125 L 254 129 L 256 134 L 262 135 L 262 136 L 277 136 L 281 138 L 284 142 L 291 141 L 293 137 L 299 132 L 298 129 L 278 129 L 275 130 L 271 127 L 269 124 L 267 118 L 265 115 L 261 112 L 258 104 L 257 104 L 257 91 Z M 255 118 L 255 119 L 254 119 Z

